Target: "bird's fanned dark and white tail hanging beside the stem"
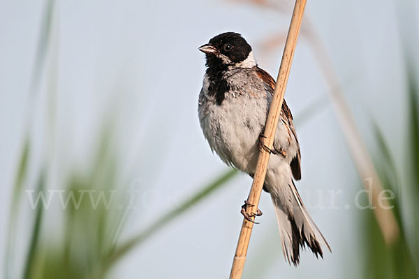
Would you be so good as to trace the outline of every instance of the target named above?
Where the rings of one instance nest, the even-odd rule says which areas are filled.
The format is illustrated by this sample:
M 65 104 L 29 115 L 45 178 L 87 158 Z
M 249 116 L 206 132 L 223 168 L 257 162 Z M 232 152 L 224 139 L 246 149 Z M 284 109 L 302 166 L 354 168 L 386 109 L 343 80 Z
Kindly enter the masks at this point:
M 281 200 L 274 195 L 272 201 L 277 214 L 284 257 L 290 264 L 292 262 L 297 266 L 300 262 L 300 248 L 307 245 L 316 257 L 320 255 L 323 258 L 322 246 L 326 246 L 329 250 L 330 246 L 311 219 L 294 183 L 289 187 L 293 193 L 291 208 L 284 208 Z

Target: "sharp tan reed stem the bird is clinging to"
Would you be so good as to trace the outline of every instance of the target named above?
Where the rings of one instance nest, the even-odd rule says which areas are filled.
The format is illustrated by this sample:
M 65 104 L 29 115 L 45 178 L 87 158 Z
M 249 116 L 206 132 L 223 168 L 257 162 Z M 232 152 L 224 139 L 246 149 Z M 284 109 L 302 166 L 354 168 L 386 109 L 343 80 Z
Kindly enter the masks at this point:
M 282 103 L 284 102 L 286 84 L 288 82 L 288 76 L 291 71 L 291 63 L 293 62 L 295 45 L 297 45 L 297 38 L 298 34 L 300 33 L 302 15 L 304 14 L 306 2 L 307 0 L 295 1 L 293 17 L 291 17 L 291 24 L 288 30 L 288 36 L 286 38 L 284 53 L 282 55 L 281 60 L 281 66 L 279 67 L 277 85 L 275 86 L 274 96 L 270 106 L 269 114 L 267 115 L 267 121 L 265 125 L 265 145 L 268 148 L 272 148 L 272 145 L 274 143 L 274 134 L 277 130 L 279 115 L 281 113 Z M 262 150 L 260 152 L 258 164 L 256 166 L 256 172 L 253 177 L 253 184 L 251 185 L 251 190 L 248 199 L 249 203 L 253 206 L 247 206 L 247 213 L 252 213 L 252 210 L 256 210 L 256 208 L 258 208 L 260 194 L 262 193 L 269 158 L 269 152 L 265 150 Z M 233 266 L 231 267 L 230 279 L 242 278 L 244 263 L 246 262 L 247 248 L 249 247 L 252 229 L 253 222 L 249 222 L 244 218 L 242 230 L 240 231 L 239 241 L 237 243 L 235 257 L 233 260 Z

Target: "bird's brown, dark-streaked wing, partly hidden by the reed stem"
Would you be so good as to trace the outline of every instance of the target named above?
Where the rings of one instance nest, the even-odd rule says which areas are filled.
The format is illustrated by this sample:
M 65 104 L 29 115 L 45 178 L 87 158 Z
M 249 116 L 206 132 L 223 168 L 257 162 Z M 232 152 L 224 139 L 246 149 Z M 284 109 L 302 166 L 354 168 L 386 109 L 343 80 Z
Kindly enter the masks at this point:
M 267 87 L 267 92 L 273 95 L 274 88 L 275 88 L 274 78 L 272 78 L 272 76 L 270 76 L 269 73 L 267 73 L 263 69 L 260 69 L 259 67 L 256 67 L 256 73 L 258 77 L 261 80 L 263 80 L 263 82 L 265 83 Z M 295 132 L 295 127 L 293 124 L 293 115 L 291 114 L 291 110 L 290 108 L 288 108 L 288 105 L 286 104 L 285 100 L 284 100 L 284 103 L 282 103 L 280 121 L 286 125 L 286 127 L 288 128 L 288 134 L 290 135 L 290 137 L 293 136 L 293 138 L 295 138 L 295 142 L 297 143 L 297 148 L 298 148 L 297 154 L 295 154 L 295 156 L 291 160 L 290 166 L 291 166 L 291 171 L 293 172 L 293 176 L 295 180 L 300 180 L 301 179 L 300 143 L 298 143 L 297 133 Z M 275 144 L 274 144 L 274 148 L 275 148 Z M 277 147 L 275 149 L 280 149 L 280 148 Z M 277 151 L 281 152 L 280 150 L 277 150 Z

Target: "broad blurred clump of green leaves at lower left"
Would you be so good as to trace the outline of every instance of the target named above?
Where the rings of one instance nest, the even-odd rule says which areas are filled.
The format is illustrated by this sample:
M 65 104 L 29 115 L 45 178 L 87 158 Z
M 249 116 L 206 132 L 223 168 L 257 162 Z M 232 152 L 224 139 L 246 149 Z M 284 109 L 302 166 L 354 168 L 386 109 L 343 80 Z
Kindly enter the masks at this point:
M 64 220 L 63 227 L 48 229 L 40 236 L 44 210 L 38 204 L 25 278 L 57 278 L 58 274 L 64 279 L 87 278 L 105 255 L 115 250 L 115 235 L 124 214 L 117 206 L 126 200 L 116 190 L 119 184 L 113 126 L 104 127 L 89 171 L 74 171 L 61 187 L 63 202 L 68 203 L 54 217 Z M 58 243 L 50 242 L 52 234 Z

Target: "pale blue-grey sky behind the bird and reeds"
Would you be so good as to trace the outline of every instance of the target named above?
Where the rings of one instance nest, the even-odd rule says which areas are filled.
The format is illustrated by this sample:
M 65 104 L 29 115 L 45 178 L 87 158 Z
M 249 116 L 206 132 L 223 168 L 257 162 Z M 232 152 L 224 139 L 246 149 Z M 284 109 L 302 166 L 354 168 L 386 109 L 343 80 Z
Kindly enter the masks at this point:
M 404 88 L 404 64 L 396 15 L 418 14 L 418 5 L 409 10 L 408 2 L 309 1 L 306 9 L 335 64 L 367 143 L 371 123 L 365 119 L 372 116 L 388 128 L 385 135 L 395 147 L 392 151 L 397 160 L 406 100 L 397 94 Z M 43 1 L 2 1 L 0 227 L 7 226 L 28 108 L 35 108 L 32 134 L 37 141 L 32 164 L 37 166 L 45 150 L 54 148 L 57 174 L 51 180 L 56 183 L 69 167 L 83 169 L 89 164 L 85 158 L 111 110 L 118 115 L 119 160 L 124 175 L 134 173 L 133 179 L 144 182 L 156 195 L 148 206 L 131 214 L 122 235 L 130 236 L 226 169 L 211 154 L 198 124 L 197 99 L 205 71 L 204 55 L 198 47 L 223 31 L 240 32 L 253 46 L 259 66 L 277 76 L 281 47 L 263 53 L 262 42 L 286 31 L 291 13 L 289 9 L 278 13 L 233 1 L 57 1 L 56 8 L 54 43 L 45 71 L 57 77 L 57 136 L 54 143 L 45 143 L 40 136 L 47 133 L 43 124 L 47 119 L 45 92 L 53 85 L 44 80 L 39 99 L 27 101 L 31 100 L 29 80 Z M 304 124 L 297 123 L 302 148 L 302 181 L 297 187 L 307 199 L 315 199 L 316 190 L 323 191 L 326 205 L 330 204 L 328 191 L 344 191 L 336 199 L 339 209 L 310 209 L 333 253 L 325 252 L 322 261 L 306 250 L 297 269 L 288 266 L 281 254 L 269 196 L 263 194 L 260 208 L 264 215 L 253 231 L 244 278 L 256 278 L 256 274 L 263 274 L 258 278 L 340 278 L 348 271 L 356 278 L 361 272 L 351 269 L 365 257 L 357 238 L 362 228 L 355 222 L 360 212 L 344 208 L 353 204 L 360 182 L 327 90 L 302 36 L 286 99 L 295 117 L 323 96 L 325 106 Z M 156 149 L 161 150 L 157 156 Z M 229 184 L 129 254 L 115 274 L 125 278 L 135 274 L 144 278 L 226 278 L 242 222 L 240 206 L 251 180 L 242 175 Z M 54 185 L 50 187 L 54 189 Z M 28 216 L 24 213 L 22 218 Z M 23 219 L 20 226 L 25 228 L 27 221 Z M 25 234 L 22 229 L 20 236 Z M 5 242 L 3 229 L 1 251 Z M 266 254 L 272 259 L 263 264 L 257 255 Z M 2 257 L 3 252 L 0 262 Z

